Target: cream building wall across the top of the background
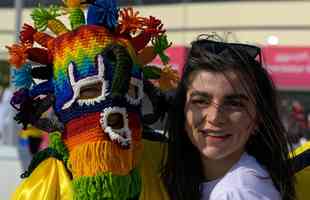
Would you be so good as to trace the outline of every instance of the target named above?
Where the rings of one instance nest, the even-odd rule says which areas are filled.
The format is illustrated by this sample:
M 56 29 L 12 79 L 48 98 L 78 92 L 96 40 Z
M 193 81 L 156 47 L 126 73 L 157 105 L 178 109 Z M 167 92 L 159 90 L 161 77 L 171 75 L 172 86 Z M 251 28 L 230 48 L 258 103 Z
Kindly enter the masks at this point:
M 232 40 L 266 44 L 276 35 L 282 45 L 310 45 L 310 1 L 241 1 L 136 7 L 143 16 L 162 19 L 174 44 L 188 45 L 197 35 L 233 31 Z M 31 23 L 30 10 L 23 22 Z M 15 13 L 0 9 L 0 59 L 14 41 Z

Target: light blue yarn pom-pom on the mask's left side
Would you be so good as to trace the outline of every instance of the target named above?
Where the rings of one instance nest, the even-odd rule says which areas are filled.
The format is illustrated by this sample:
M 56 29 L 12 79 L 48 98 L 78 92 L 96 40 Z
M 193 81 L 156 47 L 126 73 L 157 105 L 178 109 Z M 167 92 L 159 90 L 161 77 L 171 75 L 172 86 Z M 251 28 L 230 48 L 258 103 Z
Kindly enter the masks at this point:
M 32 84 L 31 64 L 24 64 L 20 69 L 13 69 L 11 71 L 11 82 L 17 89 L 29 89 Z

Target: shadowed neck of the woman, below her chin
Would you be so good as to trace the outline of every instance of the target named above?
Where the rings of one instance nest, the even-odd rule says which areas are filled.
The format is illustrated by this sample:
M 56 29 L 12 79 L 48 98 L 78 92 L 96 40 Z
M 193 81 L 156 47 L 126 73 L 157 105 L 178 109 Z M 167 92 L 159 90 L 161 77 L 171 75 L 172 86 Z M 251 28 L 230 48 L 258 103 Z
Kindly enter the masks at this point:
M 223 177 L 240 160 L 242 154 L 243 152 L 235 152 L 219 159 L 209 159 L 201 155 L 203 173 L 206 180 L 212 181 Z

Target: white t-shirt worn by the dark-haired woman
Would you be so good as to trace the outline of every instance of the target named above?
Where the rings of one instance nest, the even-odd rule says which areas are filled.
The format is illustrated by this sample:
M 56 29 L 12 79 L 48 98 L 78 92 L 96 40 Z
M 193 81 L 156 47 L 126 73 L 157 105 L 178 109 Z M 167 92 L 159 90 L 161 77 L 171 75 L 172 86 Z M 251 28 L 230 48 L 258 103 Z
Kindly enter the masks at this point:
M 224 177 L 201 186 L 202 200 L 281 200 L 268 172 L 247 153 Z

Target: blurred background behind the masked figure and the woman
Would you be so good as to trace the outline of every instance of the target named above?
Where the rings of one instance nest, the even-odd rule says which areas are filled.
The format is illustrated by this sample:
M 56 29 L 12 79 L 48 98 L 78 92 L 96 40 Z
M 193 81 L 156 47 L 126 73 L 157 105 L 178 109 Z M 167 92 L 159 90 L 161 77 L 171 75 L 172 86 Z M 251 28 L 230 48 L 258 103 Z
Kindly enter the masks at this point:
M 143 16 L 164 23 L 173 46 L 173 67 L 181 72 L 187 47 L 199 34 L 216 32 L 230 42 L 262 47 L 265 67 L 280 94 L 283 123 L 295 146 L 310 138 L 310 1 L 250 0 L 118 0 Z M 31 8 L 62 4 L 61 0 L 0 1 L 0 199 L 9 199 L 31 156 L 44 146 L 39 139 L 20 134 L 9 105 L 12 95 L 5 45 L 18 40 L 23 23 L 31 24 Z M 154 63 L 158 63 L 156 60 Z M 145 112 L 150 110 L 146 104 Z M 156 128 L 161 129 L 162 124 Z

